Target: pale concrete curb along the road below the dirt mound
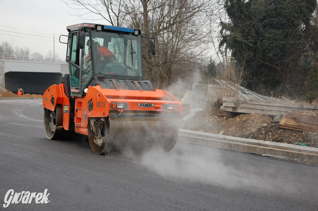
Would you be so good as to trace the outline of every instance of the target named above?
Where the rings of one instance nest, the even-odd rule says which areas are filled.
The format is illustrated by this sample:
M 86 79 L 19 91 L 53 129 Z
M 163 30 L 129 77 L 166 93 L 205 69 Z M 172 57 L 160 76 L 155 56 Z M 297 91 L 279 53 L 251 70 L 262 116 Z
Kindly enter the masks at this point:
M 318 165 L 318 148 L 179 129 L 178 141 Z

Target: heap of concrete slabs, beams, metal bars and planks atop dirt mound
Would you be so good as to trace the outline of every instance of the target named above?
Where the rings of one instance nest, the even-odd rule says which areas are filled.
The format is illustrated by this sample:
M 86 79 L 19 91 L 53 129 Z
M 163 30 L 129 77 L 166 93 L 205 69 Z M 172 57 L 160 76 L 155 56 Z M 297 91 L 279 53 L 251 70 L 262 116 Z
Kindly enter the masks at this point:
M 318 116 L 315 115 L 316 119 L 313 119 L 313 115 L 301 114 L 301 112 L 318 112 L 318 105 L 292 103 L 286 98 L 270 98 L 229 81 L 215 81 L 217 84 L 193 84 L 192 92 L 188 91 L 182 99 L 183 104 L 190 104 L 190 109 L 204 109 L 207 101 L 209 101 L 211 105 L 214 103 L 214 107 L 221 111 L 245 114 L 258 113 L 271 116 L 274 122 L 280 122 L 282 128 L 318 132 Z M 219 100 L 223 102 L 222 106 L 218 104 Z M 291 114 L 296 110 L 299 110 L 297 118 L 295 114 L 294 116 Z M 287 114 L 289 114 L 288 118 L 285 117 Z M 183 118 L 183 121 L 187 121 L 194 115 L 195 112 L 191 111 Z M 307 117 L 308 115 L 311 117 Z M 303 121 L 302 119 L 306 120 Z

